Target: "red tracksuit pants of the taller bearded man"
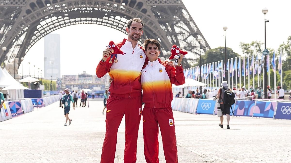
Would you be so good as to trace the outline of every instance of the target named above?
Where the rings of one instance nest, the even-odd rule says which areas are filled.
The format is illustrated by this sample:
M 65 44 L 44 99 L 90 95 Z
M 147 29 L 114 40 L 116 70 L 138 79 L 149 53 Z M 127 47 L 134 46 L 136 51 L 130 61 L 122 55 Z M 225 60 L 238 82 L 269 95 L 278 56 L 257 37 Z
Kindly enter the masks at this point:
M 110 95 L 107 100 L 106 112 L 106 133 L 101 163 L 114 163 L 117 130 L 123 115 L 125 115 L 124 162 L 136 162 L 136 143 L 141 121 L 141 96 L 124 98 Z

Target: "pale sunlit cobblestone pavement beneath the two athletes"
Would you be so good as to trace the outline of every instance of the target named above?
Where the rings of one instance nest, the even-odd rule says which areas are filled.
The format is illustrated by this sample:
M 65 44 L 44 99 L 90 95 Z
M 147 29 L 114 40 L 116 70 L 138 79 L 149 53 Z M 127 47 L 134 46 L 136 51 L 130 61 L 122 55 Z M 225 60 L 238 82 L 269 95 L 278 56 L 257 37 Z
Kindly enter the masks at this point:
M 71 108 L 70 126 L 58 102 L 0 122 L 0 162 L 100 162 L 105 133 L 102 101 Z M 290 120 L 233 117 L 230 130 L 219 118 L 174 111 L 179 162 L 291 162 Z M 226 120 L 226 119 L 225 119 Z M 125 121 L 118 130 L 115 161 L 123 162 Z M 165 162 L 159 137 L 159 160 Z M 137 162 L 143 155 L 142 123 Z

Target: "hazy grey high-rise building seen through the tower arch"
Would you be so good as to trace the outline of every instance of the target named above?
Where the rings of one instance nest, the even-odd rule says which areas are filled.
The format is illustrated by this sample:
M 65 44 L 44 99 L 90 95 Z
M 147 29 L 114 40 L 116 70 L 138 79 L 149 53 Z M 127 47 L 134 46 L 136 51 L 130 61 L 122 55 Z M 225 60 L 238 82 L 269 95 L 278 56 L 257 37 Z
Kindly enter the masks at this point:
M 44 64 L 45 79 L 61 77 L 61 50 L 60 35 L 48 34 L 45 36 Z

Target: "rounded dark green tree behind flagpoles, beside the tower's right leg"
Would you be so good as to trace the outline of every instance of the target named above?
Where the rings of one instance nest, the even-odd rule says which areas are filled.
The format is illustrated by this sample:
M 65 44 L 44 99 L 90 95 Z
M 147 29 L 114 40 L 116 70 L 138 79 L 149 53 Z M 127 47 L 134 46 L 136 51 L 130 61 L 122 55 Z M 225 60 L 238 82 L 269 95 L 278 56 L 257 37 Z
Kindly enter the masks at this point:
M 231 59 L 235 57 L 239 57 L 239 55 L 231 48 L 226 48 L 226 59 Z M 224 47 L 207 50 L 205 52 L 205 55 L 201 56 L 201 64 L 212 63 L 221 60 L 224 61 Z M 199 65 L 199 60 L 195 66 L 197 65 Z

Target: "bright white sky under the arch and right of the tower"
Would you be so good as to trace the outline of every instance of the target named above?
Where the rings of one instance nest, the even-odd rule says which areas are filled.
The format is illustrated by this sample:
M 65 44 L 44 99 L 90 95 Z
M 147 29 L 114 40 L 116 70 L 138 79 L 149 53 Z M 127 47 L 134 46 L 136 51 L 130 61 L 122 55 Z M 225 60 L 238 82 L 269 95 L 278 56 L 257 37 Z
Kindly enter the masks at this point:
M 244 1 L 193 1 L 182 0 L 189 14 L 202 32 L 211 48 L 224 46 L 223 26 L 226 30 L 226 46 L 239 55 L 240 42 L 264 42 L 263 8 L 269 11 L 266 19 L 267 47 L 277 49 L 291 35 L 291 1 L 244 0 Z M 124 33 L 101 25 L 80 24 L 53 31 L 61 36 L 61 75 L 77 75 L 86 71 L 94 75 L 102 52 L 110 40 L 121 42 L 127 38 Z M 38 68 L 44 69 L 44 39 L 40 39 L 27 52 L 18 73 L 37 76 Z

